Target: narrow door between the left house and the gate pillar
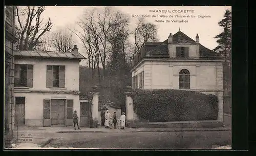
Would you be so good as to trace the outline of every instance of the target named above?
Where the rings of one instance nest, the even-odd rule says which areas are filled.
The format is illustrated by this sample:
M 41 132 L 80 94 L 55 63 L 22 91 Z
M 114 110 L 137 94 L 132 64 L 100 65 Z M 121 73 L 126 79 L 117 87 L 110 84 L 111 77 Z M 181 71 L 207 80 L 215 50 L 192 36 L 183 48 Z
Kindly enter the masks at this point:
M 80 102 L 80 125 L 89 127 L 89 102 Z

